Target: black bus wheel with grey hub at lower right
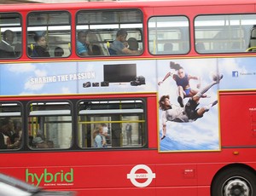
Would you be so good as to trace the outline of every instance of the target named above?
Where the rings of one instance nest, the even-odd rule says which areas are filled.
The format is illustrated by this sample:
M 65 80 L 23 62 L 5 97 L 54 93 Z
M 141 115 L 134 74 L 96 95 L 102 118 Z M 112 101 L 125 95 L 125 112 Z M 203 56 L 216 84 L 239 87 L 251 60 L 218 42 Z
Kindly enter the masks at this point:
M 212 196 L 255 196 L 256 176 L 252 171 L 236 167 L 224 170 L 214 178 Z

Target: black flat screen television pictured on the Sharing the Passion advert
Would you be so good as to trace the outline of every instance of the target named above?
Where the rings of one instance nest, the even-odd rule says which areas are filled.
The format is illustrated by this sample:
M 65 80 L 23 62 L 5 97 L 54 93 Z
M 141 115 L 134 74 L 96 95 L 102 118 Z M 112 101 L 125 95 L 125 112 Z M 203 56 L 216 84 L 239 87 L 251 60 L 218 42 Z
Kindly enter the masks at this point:
M 136 77 L 136 64 L 104 65 L 104 81 L 108 83 L 130 83 Z

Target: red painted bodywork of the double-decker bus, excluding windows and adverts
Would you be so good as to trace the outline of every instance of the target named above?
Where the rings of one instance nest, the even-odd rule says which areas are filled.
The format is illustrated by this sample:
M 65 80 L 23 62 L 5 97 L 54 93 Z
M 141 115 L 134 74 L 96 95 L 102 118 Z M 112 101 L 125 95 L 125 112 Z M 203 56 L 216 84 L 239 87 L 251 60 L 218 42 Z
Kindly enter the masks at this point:
M 75 14 L 79 9 L 141 9 L 143 11 L 143 24 L 147 24 L 151 16 L 160 15 L 186 15 L 193 24 L 194 17 L 199 14 L 236 14 L 255 13 L 255 1 L 232 1 L 232 4 L 224 1 L 207 1 L 201 5 L 201 1 L 165 1 L 140 2 L 140 3 L 61 3 L 50 5 L 20 6 L 20 14 L 26 24 L 26 14 L 30 10 L 68 10 L 72 14 L 72 41 L 75 42 Z M 0 12 L 9 12 L 17 9 L 15 5 L 3 6 Z M 198 55 L 194 49 L 194 40 L 191 38 L 191 50 L 187 55 L 157 56 L 148 52 L 148 30 L 144 28 L 143 36 L 144 53 L 134 58 L 143 60 L 170 60 L 197 57 L 200 59 L 216 56 L 249 57 L 253 54 L 229 54 L 229 55 Z M 190 37 L 195 37 L 193 27 L 190 29 Z M 26 31 L 23 32 L 26 42 Z M 26 44 L 23 46 L 26 51 Z M 95 58 L 79 59 L 75 55 L 75 47 L 72 48 L 69 61 L 98 61 Z M 126 61 L 121 57 L 102 57 L 101 61 Z M 45 62 L 44 60 L 31 60 L 24 53 L 19 60 L 7 60 L 10 62 Z M 47 60 L 53 62 L 55 60 Z M 63 61 L 63 60 L 62 60 Z M 160 152 L 160 138 L 158 125 L 158 95 L 153 93 L 125 93 L 105 95 L 19 95 L 0 97 L 0 101 L 74 101 L 97 99 L 127 99 L 143 98 L 146 100 L 147 118 L 147 144 L 146 147 L 134 149 L 68 149 L 65 150 L 30 150 L 25 147 L 17 151 L 1 152 L 0 172 L 10 176 L 16 176 L 21 180 L 32 183 L 35 186 L 49 189 L 74 190 L 78 196 L 82 195 L 197 195 L 219 196 L 221 193 L 212 190 L 219 188 L 224 183 L 220 180 L 229 178 L 230 173 L 237 176 L 245 173 L 249 176 L 248 184 L 255 179 L 256 170 L 256 106 L 255 89 L 247 90 L 220 90 L 218 91 L 219 131 L 221 147 L 219 151 L 201 152 Z M 27 133 L 26 135 L 27 136 Z M 25 140 L 26 141 L 26 140 Z M 150 172 L 139 169 L 132 173 L 137 165 L 142 168 L 148 166 Z M 143 166 L 142 166 L 143 165 Z M 240 173 L 241 171 L 241 173 Z M 249 174 L 249 175 L 247 175 Z M 146 176 L 146 177 L 145 177 Z M 242 175 L 241 175 L 242 176 Z M 137 178 L 137 183 L 146 182 L 150 178 L 151 183 L 147 187 L 136 187 L 131 178 Z M 233 177 L 233 176 L 232 176 Z M 242 177 L 241 177 L 242 178 Z M 240 180 L 240 179 L 239 179 Z M 236 178 L 234 179 L 236 182 Z M 219 183 L 218 183 L 219 182 Z M 238 181 L 237 182 L 241 182 Z M 213 185 L 213 186 L 212 186 Z M 225 186 L 229 186 L 225 184 Z M 255 183 L 251 185 L 254 196 Z M 252 192 L 252 191 L 251 191 Z

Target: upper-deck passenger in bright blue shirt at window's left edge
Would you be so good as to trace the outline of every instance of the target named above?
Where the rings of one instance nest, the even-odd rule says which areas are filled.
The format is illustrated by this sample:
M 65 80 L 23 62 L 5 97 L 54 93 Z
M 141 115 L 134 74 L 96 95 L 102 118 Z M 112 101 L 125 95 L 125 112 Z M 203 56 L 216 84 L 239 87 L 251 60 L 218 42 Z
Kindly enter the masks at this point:
M 89 54 L 89 45 L 87 41 L 87 32 L 81 31 L 78 33 L 77 53 L 79 56 L 87 56 Z

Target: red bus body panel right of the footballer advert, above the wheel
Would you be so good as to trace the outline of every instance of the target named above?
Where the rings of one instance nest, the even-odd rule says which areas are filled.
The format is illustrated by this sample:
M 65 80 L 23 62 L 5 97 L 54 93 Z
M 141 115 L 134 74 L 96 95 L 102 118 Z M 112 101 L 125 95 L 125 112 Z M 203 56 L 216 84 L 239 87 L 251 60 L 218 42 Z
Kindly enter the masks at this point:
M 255 146 L 254 100 L 255 92 L 253 91 L 220 92 L 220 114 L 221 118 L 224 119 L 220 129 L 230 130 L 230 133 L 222 131 L 222 145 L 224 147 Z

